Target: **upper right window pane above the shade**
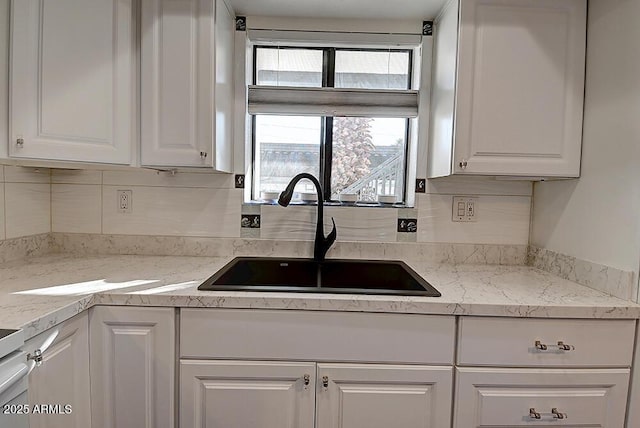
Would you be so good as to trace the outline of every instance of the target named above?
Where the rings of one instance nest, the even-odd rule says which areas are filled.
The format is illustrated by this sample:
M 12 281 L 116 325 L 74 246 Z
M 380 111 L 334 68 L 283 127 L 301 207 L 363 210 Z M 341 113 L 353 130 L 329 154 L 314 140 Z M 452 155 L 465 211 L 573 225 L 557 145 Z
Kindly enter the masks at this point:
M 407 89 L 409 52 L 337 50 L 335 87 Z

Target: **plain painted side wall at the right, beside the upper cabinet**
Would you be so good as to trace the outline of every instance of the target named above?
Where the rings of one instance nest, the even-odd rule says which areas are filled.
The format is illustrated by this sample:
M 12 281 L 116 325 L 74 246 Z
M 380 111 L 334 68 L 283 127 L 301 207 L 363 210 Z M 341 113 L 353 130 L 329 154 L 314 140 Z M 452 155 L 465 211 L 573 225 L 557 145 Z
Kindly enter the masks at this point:
M 638 273 L 640 0 L 590 0 L 582 172 L 534 186 L 531 243 Z

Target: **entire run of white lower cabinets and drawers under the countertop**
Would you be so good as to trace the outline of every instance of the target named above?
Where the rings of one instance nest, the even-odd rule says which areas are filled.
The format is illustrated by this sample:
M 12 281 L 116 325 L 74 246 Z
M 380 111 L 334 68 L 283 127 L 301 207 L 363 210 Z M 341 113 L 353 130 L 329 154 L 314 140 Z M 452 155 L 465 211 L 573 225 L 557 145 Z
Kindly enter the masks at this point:
M 182 309 L 179 326 L 96 306 L 56 327 L 29 400 L 73 411 L 31 427 L 625 427 L 634 320 L 465 316 L 457 352 L 447 316 Z

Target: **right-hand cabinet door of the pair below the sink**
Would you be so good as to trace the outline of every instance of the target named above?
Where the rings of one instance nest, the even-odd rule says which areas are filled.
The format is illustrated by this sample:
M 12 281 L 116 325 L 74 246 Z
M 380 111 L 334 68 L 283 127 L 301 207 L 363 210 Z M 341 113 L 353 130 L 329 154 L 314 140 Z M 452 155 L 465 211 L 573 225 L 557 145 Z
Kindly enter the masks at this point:
M 451 424 L 451 367 L 318 364 L 318 428 Z

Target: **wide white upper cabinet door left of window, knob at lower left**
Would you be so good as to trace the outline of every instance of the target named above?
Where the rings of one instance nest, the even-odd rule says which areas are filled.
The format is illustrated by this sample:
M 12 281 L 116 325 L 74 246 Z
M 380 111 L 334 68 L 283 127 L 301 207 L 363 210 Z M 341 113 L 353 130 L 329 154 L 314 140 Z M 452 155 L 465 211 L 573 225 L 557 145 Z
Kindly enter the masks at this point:
M 136 141 L 132 0 L 18 0 L 9 155 L 129 164 Z

